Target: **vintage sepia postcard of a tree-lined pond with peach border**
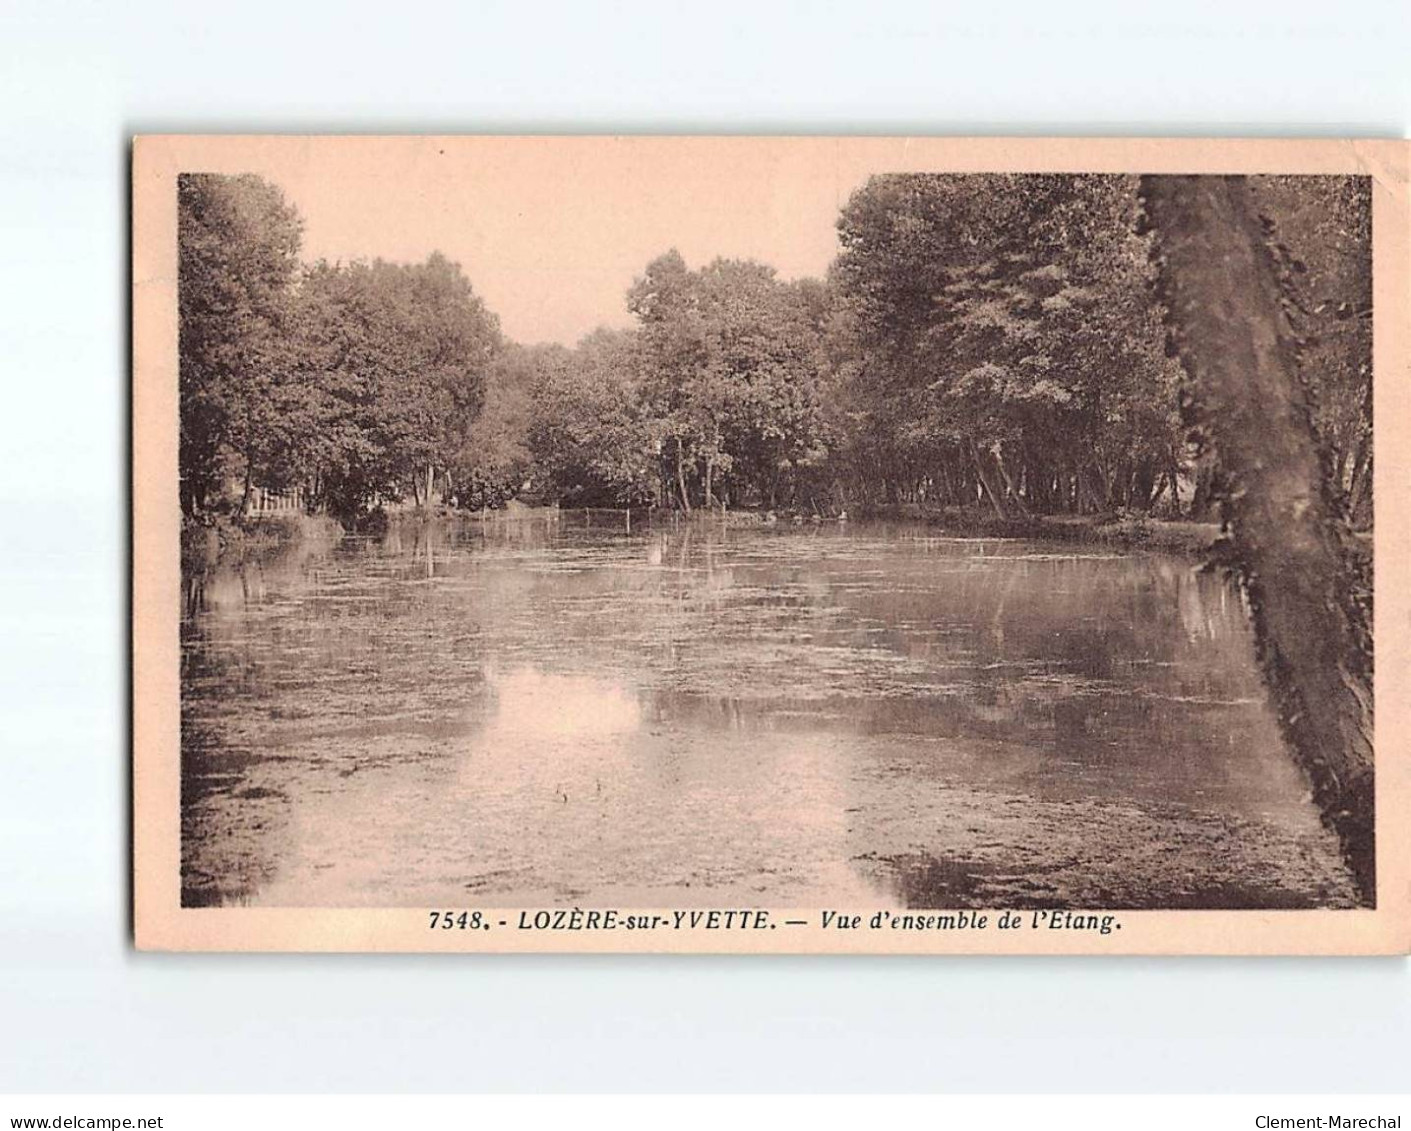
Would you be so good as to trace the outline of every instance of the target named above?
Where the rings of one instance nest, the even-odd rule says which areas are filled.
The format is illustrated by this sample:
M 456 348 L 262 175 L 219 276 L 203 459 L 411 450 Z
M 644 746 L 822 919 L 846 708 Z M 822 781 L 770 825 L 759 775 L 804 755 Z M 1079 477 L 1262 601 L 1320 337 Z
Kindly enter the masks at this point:
M 1405 953 L 1408 157 L 138 138 L 137 945 Z

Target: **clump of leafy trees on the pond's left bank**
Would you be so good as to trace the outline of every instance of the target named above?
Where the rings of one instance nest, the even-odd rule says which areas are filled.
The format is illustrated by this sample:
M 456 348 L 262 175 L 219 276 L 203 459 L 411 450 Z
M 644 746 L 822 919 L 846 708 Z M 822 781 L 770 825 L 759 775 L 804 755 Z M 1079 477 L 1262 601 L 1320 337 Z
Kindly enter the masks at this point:
M 353 520 L 430 499 L 464 458 L 501 350 L 456 264 L 315 264 L 254 176 L 179 181 L 181 471 L 188 513 L 253 484 Z

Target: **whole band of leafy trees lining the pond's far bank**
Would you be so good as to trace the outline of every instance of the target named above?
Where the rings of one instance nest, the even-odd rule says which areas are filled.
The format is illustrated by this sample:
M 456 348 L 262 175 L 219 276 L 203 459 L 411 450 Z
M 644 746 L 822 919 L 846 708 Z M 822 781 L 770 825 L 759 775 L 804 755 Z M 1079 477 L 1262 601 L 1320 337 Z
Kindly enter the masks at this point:
M 1250 197 L 1329 477 L 1369 522 L 1366 181 Z M 825 281 L 667 251 L 625 295 L 635 326 L 569 348 L 504 341 L 442 255 L 301 268 L 278 189 L 185 176 L 182 502 L 1205 513 L 1139 220 L 1132 176 L 875 176 Z

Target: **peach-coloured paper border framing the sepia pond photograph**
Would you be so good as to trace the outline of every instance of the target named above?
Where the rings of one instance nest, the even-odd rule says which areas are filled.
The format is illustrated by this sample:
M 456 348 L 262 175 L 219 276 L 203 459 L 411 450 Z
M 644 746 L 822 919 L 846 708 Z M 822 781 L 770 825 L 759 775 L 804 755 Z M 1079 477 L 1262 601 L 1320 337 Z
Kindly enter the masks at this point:
M 770 908 L 806 927 L 773 931 L 449 931 L 422 908 L 182 908 L 178 502 L 176 175 L 317 162 L 354 147 L 370 164 L 413 162 L 447 145 L 487 159 L 515 147 L 594 147 L 650 159 L 691 147 L 701 161 L 838 161 L 896 172 L 1364 173 L 1373 179 L 1377 908 L 1355 911 L 1126 911 L 1089 932 L 824 929 L 820 908 Z M 1027 953 L 1371 955 L 1411 950 L 1411 142 L 1400 140 L 944 138 L 944 137 L 295 137 L 150 135 L 133 148 L 133 884 L 144 950 L 395 950 L 571 953 Z M 1390 738 L 1387 738 L 1390 736 Z M 491 918 L 518 908 L 477 907 Z M 650 908 L 631 908 L 634 914 Z M 842 910 L 842 908 L 840 908 Z M 858 908 L 861 910 L 861 908 Z M 995 908 L 998 914 L 1003 908 Z M 871 908 L 869 908 L 871 911 Z

